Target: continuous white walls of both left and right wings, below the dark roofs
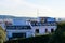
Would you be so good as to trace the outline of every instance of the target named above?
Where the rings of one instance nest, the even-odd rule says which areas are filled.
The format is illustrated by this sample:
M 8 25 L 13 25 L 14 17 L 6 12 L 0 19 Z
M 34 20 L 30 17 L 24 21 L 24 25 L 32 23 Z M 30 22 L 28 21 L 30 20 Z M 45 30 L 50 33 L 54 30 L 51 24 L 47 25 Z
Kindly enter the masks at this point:
M 39 29 L 39 34 L 46 34 L 46 29 L 51 32 L 51 29 L 56 29 L 57 26 L 34 26 L 31 30 L 6 30 L 9 38 L 12 37 L 12 33 L 26 32 L 26 38 L 35 37 L 36 29 Z

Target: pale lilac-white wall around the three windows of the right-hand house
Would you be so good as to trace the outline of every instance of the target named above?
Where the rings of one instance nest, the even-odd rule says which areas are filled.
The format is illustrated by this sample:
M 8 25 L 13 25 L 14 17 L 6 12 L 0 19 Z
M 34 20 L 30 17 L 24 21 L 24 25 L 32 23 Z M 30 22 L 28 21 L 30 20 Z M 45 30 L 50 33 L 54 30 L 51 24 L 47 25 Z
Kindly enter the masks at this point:
M 34 26 L 32 28 L 32 33 L 36 33 L 36 29 L 39 29 L 40 34 L 46 34 L 46 29 L 48 29 L 49 32 L 51 32 L 51 29 L 53 28 L 54 30 L 57 28 L 56 26 Z

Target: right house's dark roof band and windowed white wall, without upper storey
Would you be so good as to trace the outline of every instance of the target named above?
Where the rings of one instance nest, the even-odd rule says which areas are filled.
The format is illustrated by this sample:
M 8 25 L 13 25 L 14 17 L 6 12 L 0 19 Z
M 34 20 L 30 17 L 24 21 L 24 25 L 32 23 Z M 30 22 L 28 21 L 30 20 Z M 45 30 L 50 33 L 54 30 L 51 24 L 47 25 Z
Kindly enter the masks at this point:
M 32 35 L 49 34 L 56 30 L 56 23 L 38 23 L 31 22 Z

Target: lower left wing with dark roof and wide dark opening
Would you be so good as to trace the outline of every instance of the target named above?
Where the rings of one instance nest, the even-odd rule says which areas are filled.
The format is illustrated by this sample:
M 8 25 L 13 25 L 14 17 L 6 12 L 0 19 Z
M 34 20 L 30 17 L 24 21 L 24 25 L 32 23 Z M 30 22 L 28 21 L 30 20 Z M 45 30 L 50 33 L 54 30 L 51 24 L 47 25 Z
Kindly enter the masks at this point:
M 30 26 L 6 26 L 6 35 L 8 39 L 13 38 L 29 38 L 31 37 L 31 27 Z

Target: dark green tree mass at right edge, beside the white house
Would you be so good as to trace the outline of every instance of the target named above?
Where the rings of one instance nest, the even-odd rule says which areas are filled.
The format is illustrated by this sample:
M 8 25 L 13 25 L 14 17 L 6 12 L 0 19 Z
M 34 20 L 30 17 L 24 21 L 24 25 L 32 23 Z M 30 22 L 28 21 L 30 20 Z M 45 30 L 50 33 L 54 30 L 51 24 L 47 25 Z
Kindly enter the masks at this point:
M 58 24 L 55 33 L 51 37 L 49 43 L 65 43 L 65 24 Z

